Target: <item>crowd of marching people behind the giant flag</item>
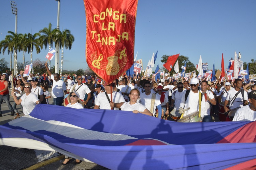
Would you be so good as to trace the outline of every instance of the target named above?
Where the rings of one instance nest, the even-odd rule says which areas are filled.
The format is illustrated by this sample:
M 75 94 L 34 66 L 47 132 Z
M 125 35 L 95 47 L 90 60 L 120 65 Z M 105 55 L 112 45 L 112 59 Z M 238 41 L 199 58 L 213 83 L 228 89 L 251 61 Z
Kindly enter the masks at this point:
M 0 116 L 3 100 L 11 115 L 16 113 L 16 119 L 20 117 L 17 105 L 27 115 L 36 104 L 49 104 L 48 99 L 53 97 L 54 105 L 132 111 L 173 121 L 193 122 L 191 117 L 195 116 L 198 118 L 195 122 L 209 122 L 213 117 L 219 117 L 220 121 L 256 120 L 256 85 L 253 81 L 211 82 L 197 78 L 177 81 L 167 77 L 156 80 L 154 76 L 129 78 L 124 75 L 109 84 L 97 76 L 52 74 L 47 63 L 45 68 L 47 73 L 28 77 L 23 77 L 24 71 L 20 71 L 16 81 L 12 75 L 8 79 L 6 73 L 1 74 Z M 13 105 L 8 89 L 12 81 L 15 82 L 11 92 Z M 62 165 L 69 162 L 70 158 L 66 157 Z M 76 160 L 76 163 L 80 162 Z

